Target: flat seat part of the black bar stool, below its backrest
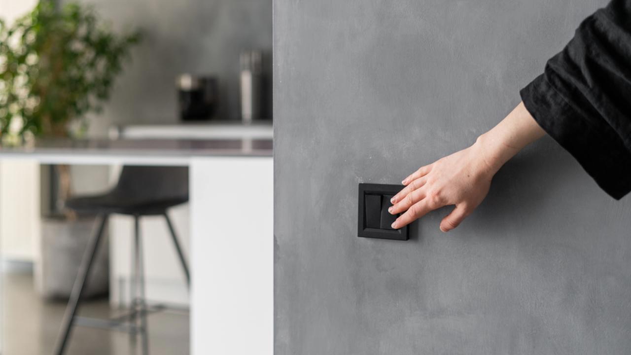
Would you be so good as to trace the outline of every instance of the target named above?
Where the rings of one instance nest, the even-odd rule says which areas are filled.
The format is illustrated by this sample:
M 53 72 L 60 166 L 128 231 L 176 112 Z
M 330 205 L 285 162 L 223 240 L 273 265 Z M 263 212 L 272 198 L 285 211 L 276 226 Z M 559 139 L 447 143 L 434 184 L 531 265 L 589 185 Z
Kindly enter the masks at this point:
M 143 201 L 105 193 L 69 198 L 66 207 L 80 214 L 162 215 L 168 208 L 181 205 L 188 200 L 188 196 L 180 196 Z

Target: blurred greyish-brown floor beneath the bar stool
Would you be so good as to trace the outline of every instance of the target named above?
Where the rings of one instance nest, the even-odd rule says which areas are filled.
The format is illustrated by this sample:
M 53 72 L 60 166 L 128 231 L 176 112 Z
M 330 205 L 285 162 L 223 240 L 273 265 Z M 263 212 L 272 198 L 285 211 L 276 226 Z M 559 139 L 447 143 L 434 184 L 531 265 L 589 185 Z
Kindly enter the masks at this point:
M 44 301 L 33 289 L 30 273 L 5 274 L 3 279 L 3 355 L 52 354 L 66 304 Z M 86 301 L 81 315 L 107 317 L 107 299 Z M 149 354 L 188 354 L 189 316 L 166 311 L 148 316 Z M 66 355 L 141 354 L 141 339 L 128 333 L 76 327 Z

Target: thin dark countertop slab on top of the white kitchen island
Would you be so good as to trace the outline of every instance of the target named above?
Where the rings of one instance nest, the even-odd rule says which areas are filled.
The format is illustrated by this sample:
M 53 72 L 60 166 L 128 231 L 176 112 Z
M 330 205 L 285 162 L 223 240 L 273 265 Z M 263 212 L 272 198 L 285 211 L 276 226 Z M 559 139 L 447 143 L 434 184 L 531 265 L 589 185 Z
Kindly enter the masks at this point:
M 270 139 L 42 139 L 0 147 L 0 155 L 148 155 L 153 157 L 272 156 Z

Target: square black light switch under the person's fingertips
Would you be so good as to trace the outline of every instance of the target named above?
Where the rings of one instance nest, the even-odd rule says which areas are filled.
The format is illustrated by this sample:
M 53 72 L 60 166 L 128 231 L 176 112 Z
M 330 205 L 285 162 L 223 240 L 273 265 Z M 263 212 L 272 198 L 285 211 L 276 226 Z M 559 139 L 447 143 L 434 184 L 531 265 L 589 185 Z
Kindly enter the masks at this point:
M 398 216 L 391 215 L 387 208 L 390 199 L 403 186 L 390 184 L 359 184 L 357 236 L 363 238 L 408 240 L 408 226 L 392 229 L 390 225 Z M 375 204 L 379 203 L 379 210 Z

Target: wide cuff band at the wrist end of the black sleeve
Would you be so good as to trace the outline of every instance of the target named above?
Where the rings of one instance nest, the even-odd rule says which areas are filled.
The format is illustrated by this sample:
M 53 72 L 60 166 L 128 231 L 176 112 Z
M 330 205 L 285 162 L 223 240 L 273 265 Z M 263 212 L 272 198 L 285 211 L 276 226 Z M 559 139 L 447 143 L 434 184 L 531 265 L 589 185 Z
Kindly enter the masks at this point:
M 631 153 L 615 131 L 584 117 L 540 75 L 520 91 L 534 120 L 616 200 L 631 191 Z

